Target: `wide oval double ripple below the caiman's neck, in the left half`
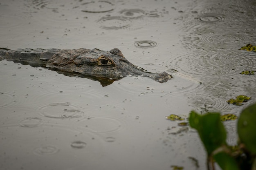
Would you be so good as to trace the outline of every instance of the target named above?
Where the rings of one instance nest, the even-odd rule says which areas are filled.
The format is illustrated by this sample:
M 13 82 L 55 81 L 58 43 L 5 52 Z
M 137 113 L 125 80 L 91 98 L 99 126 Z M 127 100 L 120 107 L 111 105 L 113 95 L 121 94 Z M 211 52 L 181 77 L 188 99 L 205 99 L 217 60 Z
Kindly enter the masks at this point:
M 76 118 L 81 117 L 83 112 L 79 106 L 71 103 L 52 103 L 39 107 L 40 114 L 50 118 Z

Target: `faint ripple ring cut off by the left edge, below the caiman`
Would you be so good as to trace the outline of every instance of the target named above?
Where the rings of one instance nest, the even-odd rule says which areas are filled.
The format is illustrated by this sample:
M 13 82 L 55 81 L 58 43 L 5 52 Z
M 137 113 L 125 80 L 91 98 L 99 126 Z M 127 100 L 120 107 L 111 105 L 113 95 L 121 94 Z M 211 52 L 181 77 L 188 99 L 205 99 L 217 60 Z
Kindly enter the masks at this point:
M 16 94 L 0 91 L 0 108 L 10 107 L 16 104 Z

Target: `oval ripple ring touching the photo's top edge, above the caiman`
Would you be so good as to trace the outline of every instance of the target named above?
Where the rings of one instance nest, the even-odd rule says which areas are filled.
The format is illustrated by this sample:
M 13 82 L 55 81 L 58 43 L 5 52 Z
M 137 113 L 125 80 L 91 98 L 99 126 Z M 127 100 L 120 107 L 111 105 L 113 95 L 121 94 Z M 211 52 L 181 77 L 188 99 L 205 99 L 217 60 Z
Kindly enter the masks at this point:
M 83 12 L 89 12 L 89 13 L 103 13 L 103 12 L 109 12 L 113 11 L 115 9 L 115 5 L 112 2 L 106 1 L 106 0 L 99 0 L 99 1 L 91 1 L 91 2 L 85 2 L 81 5 L 84 5 Z

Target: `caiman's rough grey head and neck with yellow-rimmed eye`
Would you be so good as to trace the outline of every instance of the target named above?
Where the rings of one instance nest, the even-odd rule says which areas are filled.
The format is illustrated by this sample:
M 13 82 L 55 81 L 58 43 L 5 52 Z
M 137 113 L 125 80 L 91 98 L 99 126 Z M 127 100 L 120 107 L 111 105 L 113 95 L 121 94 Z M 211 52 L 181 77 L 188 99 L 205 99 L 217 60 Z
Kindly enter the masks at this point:
M 56 53 L 47 62 L 46 67 L 60 71 L 63 74 L 72 73 L 80 77 L 91 77 L 101 83 L 109 80 L 110 82 L 107 85 L 128 75 L 141 75 L 160 83 L 167 82 L 168 79 L 172 78 L 171 75 L 165 72 L 150 73 L 143 68 L 135 66 L 126 60 L 117 48 L 110 51 L 86 50 L 77 49 Z

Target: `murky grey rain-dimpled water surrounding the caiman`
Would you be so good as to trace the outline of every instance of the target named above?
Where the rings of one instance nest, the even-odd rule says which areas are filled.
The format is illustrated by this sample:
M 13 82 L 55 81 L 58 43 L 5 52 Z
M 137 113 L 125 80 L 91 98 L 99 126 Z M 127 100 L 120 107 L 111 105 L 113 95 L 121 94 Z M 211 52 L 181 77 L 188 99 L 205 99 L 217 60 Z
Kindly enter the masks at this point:
M 255 1 L 1 0 L 0 47 L 119 48 L 133 64 L 174 76 L 102 87 L 0 61 L 0 169 L 205 169 L 194 130 L 165 119 L 256 101 Z M 173 71 L 177 70 L 178 72 Z M 237 95 L 252 100 L 227 104 Z M 236 122 L 225 123 L 230 144 Z M 198 160 L 199 168 L 193 159 Z

